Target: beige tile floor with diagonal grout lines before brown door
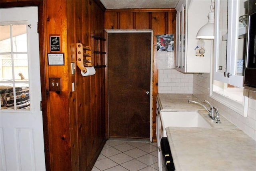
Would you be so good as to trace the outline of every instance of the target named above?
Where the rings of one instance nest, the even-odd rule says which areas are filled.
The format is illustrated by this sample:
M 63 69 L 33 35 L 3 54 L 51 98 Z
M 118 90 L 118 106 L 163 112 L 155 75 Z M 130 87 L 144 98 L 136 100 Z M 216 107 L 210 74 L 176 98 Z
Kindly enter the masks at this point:
M 157 144 L 108 140 L 92 171 L 158 171 Z

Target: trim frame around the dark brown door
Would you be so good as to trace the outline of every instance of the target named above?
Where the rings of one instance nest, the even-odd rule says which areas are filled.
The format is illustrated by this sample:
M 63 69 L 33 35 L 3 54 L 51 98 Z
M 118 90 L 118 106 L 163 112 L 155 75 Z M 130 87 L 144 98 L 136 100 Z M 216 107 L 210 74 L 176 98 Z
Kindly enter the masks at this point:
M 150 29 L 145 29 L 145 30 L 121 30 L 121 29 L 105 29 L 106 31 L 106 37 L 107 37 L 107 54 L 108 54 L 108 33 L 151 33 L 151 59 L 150 59 L 150 141 L 152 141 L 152 101 L 153 101 L 153 54 L 154 54 L 154 42 L 153 42 L 153 38 L 154 38 L 154 32 L 153 30 Z M 108 60 L 106 60 L 106 65 L 108 66 Z M 108 104 L 108 68 L 106 69 L 106 103 Z M 108 106 L 108 105 L 106 105 Z M 108 118 L 108 111 L 106 112 L 107 118 Z M 106 121 L 106 124 L 108 127 L 109 122 L 108 120 Z M 106 137 L 109 137 L 109 129 L 106 129 Z

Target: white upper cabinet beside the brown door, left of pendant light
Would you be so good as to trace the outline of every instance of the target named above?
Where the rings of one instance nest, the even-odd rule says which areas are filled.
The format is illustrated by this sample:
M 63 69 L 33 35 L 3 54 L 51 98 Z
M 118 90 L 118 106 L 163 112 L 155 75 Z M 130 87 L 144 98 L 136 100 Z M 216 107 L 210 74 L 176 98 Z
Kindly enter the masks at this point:
M 198 30 L 208 22 L 210 5 L 210 0 L 180 0 L 176 6 L 175 68 L 180 72 L 210 72 L 212 41 L 196 39 Z

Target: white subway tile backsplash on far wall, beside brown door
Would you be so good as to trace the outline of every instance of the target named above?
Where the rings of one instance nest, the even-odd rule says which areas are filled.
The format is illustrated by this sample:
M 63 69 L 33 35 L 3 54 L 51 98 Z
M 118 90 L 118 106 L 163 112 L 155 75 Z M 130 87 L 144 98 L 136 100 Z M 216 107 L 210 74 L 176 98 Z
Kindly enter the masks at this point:
M 158 93 L 193 93 L 193 74 L 175 69 L 158 70 Z

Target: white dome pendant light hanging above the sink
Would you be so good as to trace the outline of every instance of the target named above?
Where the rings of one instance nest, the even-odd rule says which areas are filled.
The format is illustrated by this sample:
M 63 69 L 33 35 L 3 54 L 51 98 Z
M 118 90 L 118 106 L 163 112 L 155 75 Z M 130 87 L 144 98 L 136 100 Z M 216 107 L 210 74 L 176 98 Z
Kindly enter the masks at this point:
M 196 34 L 198 39 L 214 39 L 214 0 L 212 0 L 208 22 Z

